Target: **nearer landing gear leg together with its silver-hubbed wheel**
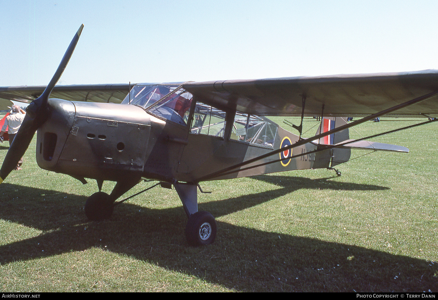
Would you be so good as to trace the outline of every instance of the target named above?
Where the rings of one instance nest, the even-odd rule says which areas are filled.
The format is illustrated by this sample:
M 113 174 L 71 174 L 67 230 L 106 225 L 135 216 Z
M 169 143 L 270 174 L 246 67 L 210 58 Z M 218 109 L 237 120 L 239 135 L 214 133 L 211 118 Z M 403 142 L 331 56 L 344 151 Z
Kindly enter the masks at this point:
M 189 220 L 186 225 L 186 238 L 190 246 L 209 245 L 216 238 L 215 218 L 207 211 L 198 211 L 198 186 L 191 184 L 173 184 L 183 203 Z

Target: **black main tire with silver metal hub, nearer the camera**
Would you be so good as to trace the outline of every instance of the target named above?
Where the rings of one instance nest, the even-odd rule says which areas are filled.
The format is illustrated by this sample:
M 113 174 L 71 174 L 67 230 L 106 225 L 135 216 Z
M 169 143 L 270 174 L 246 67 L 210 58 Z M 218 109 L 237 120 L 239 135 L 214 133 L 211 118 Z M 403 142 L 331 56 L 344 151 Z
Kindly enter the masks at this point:
M 207 211 L 192 214 L 186 225 L 186 238 L 190 246 L 209 245 L 216 238 L 216 221 Z

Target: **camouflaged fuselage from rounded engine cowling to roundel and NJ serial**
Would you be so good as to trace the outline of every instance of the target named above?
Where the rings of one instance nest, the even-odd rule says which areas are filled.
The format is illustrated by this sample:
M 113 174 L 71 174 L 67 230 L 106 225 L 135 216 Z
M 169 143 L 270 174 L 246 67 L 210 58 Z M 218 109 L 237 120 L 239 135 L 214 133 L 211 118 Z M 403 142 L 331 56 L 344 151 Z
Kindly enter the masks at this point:
M 238 129 L 236 112 L 232 112 L 231 117 L 229 112 L 224 112 L 222 121 L 212 121 L 210 113 L 210 124 L 205 125 L 208 118 L 204 116 L 202 124 L 196 124 L 201 114 L 190 113 L 188 108 L 186 114 L 176 120 L 175 116 L 162 118 L 161 114 L 132 104 L 50 99 L 49 107 L 50 117 L 37 132 L 37 163 L 46 170 L 78 179 L 198 182 L 216 171 L 298 140 L 297 135 L 266 118 L 253 121 L 255 133 L 251 133 L 250 117 L 244 115 L 248 120 L 246 127 Z M 191 110 L 200 111 L 194 105 Z M 218 126 L 222 128 L 214 129 Z M 262 130 L 265 131 L 261 133 Z M 317 143 L 307 143 L 252 165 L 282 161 L 214 179 L 329 167 L 329 150 L 290 158 L 317 147 Z

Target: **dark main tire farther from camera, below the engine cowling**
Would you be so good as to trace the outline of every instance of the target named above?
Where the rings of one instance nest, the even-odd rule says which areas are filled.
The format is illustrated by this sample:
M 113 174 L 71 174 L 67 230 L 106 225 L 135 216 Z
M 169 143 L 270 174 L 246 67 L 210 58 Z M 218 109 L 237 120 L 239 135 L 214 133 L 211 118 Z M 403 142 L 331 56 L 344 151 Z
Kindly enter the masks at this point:
M 85 202 L 84 211 L 90 221 L 109 219 L 114 211 L 113 201 L 109 200 L 106 193 L 94 193 Z

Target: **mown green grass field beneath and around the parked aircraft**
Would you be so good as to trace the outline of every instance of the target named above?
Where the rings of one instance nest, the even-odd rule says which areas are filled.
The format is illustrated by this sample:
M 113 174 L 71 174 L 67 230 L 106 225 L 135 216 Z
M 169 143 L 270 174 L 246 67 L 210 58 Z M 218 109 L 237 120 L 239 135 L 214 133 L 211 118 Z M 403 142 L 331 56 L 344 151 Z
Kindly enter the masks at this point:
M 356 130 L 365 136 L 416 121 L 382 118 Z M 316 124 L 304 120 L 305 130 Z M 316 127 L 306 135 L 314 132 Z M 199 195 L 199 210 L 215 216 L 218 236 L 198 248 L 186 243 L 187 217 L 169 189 L 128 200 L 110 220 L 87 221 L 83 205 L 98 190 L 96 182 L 82 185 L 40 169 L 34 138 L 24 170 L 0 185 L 0 288 L 437 292 L 437 132 L 433 123 L 374 139 L 410 153 L 365 155 L 339 165 L 341 177 L 305 170 L 204 182 L 202 189 L 212 194 Z M 0 146 L 1 161 L 7 146 Z M 352 151 L 352 158 L 366 153 Z M 113 186 L 105 182 L 102 190 Z

